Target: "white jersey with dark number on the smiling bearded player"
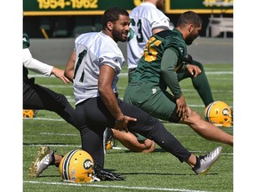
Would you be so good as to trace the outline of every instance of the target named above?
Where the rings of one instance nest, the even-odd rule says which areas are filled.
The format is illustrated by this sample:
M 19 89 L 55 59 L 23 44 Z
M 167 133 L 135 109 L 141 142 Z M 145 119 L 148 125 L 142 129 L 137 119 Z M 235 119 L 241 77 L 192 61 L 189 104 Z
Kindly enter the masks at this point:
M 124 55 L 116 42 L 102 31 L 85 33 L 76 38 L 75 51 L 74 92 L 76 104 L 100 96 L 98 79 L 101 65 L 108 65 L 116 71 L 112 88 L 117 93 L 117 75 L 124 64 Z

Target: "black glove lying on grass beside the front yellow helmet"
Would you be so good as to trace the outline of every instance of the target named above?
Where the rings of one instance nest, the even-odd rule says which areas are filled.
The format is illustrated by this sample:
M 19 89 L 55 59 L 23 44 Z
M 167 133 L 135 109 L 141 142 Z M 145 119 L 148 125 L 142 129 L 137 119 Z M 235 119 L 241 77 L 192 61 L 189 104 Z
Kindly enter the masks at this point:
M 107 170 L 99 170 L 94 168 L 95 176 L 100 180 L 125 180 L 125 178 L 116 172 L 107 172 Z

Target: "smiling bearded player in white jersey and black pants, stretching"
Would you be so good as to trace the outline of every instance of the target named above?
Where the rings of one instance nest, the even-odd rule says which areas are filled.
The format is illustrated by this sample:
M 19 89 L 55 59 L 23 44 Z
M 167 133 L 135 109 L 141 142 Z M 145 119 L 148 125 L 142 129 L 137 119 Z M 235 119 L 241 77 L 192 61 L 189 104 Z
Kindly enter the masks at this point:
M 108 8 L 103 14 L 101 32 L 86 33 L 76 38 L 75 49 L 65 69 L 65 76 L 74 83 L 76 120 L 82 148 L 92 156 L 96 176 L 104 168 L 102 141 L 106 127 L 139 132 L 176 156 L 180 162 L 193 167 L 196 174 L 204 172 L 200 168 L 203 163 L 201 157 L 192 155 L 184 148 L 158 119 L 118 99 L 117 75 L 124 64 L 124 56 L 116 43 L 127 40 L 129 24 L 127 11 L 118 7 Z M 207 157 L 207 169 L 217 158 L 210 160 Z

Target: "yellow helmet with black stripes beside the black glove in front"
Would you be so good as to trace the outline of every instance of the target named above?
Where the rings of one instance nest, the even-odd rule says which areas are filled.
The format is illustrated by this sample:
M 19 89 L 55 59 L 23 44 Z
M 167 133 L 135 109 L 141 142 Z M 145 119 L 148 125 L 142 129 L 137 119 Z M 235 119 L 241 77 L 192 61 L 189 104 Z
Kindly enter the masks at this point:
M 88 183 L 95 180 L 93 159 L 82 149 L 68 152 L 60 161 L 59 171 L 63 181 Z

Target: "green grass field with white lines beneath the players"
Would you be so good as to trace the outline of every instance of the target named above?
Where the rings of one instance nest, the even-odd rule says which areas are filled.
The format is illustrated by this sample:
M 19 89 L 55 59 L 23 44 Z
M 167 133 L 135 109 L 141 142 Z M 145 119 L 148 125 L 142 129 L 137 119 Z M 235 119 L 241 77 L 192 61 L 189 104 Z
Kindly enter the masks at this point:
M 62 67 L 63 68 L 63 67 Z M 233 65 L 204 65 L 214 100 L 223 100 L 233 108 Z M 127 69 L 119 79 L 120 98 L 127 84 Z M 33 75 L 33 73 L 30 73 Z M 36 83 L 63 93 L 74 104 L 71 84 L 62 84 L 54 77 L 36 76 Z M 194 90 L 190 79 L 180 82 L 188 106 L 203 116 L 204 104 Z M 69 150 L 80 148 L 79 133 L 55 113 L 40 110 L 36 118 L 23 120 L 23 191 L 233 191 L 233 148 L 225 144 L 204 140 L 188 126 L 163 122 L 166 129 L 177 137 L 188 150 L 204 155 L 217 146 L 222 146 L 220 159 L 208 175 L 195 175 L 187 164 L 180 164 L 171 154 L 156 146 L 150 154 L 132 153 L 117 142 L 121 149 L 110 149 L 105 156 L 105 168 L 122 173 L 124 181 L 102 181 L 92 184 L 68 184 L 60 179 L 57 167 L 50 166 L 36 179 L 28 177 L 28 167 L 44 144 L 65 155 Z M 221 128 L 233 134 L 233 127 Z

